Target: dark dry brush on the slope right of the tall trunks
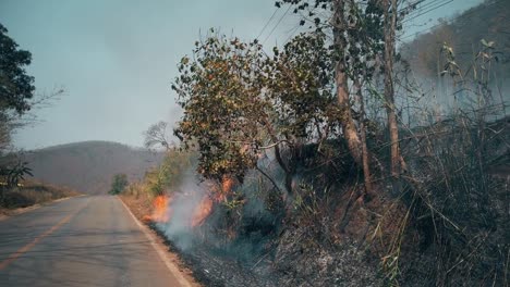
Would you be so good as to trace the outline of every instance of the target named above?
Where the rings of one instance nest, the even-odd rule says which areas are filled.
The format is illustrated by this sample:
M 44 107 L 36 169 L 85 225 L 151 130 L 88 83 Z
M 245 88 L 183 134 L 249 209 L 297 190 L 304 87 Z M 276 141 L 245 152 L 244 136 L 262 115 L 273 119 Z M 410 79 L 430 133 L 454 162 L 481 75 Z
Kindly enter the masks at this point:
M 430 112 L 445 107 L 408 111 L 423 116 L 417 122 L 435 121 L 408 126 L 402 133 L 408 170 L 397 199 L 408 215 L 400 224 L 402 232 L 390 240 L 399 244 L 391 244 L 382 260 L 390 284 L 509 284 L 509 174 L 505 166 L 510 163 L 510 117 L 505 97 L 497 102 L 490 89 L 493 43 L 482 43 L 472 71 L 460 71 L 452 49 L 444 47 L 441 73 L 451 76 L 453 87 L 453 95 L 442 95 L 453 99 L 447 114 Z

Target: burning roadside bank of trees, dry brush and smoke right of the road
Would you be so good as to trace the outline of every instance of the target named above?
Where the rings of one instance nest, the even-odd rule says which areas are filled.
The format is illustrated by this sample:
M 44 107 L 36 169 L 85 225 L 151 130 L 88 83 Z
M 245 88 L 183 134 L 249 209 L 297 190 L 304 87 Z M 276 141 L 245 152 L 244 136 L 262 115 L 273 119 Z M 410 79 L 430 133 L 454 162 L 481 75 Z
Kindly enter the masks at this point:
M 167 157 L 124 195 L 206 284 L 507 286 L 505 46 L 445 41 L 420 75 L 413 1 L 276 5 L 302 17 L 283 48 L 210 29 L 182 58 L 181 142 L 153 126 Z

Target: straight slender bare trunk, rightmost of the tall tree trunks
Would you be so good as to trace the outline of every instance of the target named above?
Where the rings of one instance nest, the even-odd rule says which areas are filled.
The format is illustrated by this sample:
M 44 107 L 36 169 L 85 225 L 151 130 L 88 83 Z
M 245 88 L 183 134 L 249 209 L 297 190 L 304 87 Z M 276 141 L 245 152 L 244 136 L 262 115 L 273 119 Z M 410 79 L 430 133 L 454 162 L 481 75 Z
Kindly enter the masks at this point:
M 390 171 L 394 191 L 399 191 L 398 180 L 400 178 L 400 148 L 399 127 L 397 122 L 394 90 L 393 90 L 393 57 L 394 57 L 394 34 L 397 25 L 397 0 L 384 0 L 385 13 L 385 100 L 388 115 L 388 129 L 390 136 Z

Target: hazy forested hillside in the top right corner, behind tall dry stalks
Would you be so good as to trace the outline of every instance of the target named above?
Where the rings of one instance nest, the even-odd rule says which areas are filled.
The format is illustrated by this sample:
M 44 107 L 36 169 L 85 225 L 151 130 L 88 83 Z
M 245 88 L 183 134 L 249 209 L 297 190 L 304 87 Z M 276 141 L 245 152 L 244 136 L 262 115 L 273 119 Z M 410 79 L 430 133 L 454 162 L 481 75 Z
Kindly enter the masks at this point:
M 444 43 L 453 49 L 456 62 L 466 71 L 482 48 L 481 41 L 494 41 L 497 66 L 493 80 L 505 84 L 510 76 L 510 1 L 486 0 L 462 14 L 444 20 L 434 29 L 401 47 L 403 58 L 420 76 L 437 77 L 444 63 L 440 51 Z M 405 40 L 405 39 L 403 39 Z

